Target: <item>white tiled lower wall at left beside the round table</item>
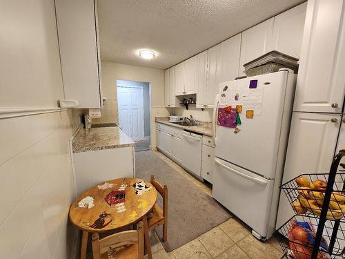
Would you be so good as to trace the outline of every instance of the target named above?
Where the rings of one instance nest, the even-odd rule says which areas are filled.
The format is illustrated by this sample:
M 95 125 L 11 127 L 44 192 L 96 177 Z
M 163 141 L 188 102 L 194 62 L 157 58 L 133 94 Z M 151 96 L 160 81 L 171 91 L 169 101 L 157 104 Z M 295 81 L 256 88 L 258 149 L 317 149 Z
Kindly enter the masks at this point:
M 77 231 L 67 236 L 68 209 L 75 198 L 68 146 L 72 116 L 47 113 L 6 119 L 9 123 L 1 125 L 12 142 L 0 140 L 11 153 L 0 153 L 6 161 L 0 165 L 0 258 L 75 255 Z M 24 125 L 29 125 L 25 131 Z

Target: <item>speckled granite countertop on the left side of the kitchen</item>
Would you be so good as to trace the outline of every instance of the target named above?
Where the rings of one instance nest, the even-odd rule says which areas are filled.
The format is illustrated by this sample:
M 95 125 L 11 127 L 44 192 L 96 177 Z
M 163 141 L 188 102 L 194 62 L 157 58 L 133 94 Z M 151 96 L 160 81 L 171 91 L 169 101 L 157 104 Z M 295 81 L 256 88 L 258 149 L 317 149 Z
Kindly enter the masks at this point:
M 72 142 L 73 153 L 134 146 L 135 143 L 119 127 L 81 128 Z

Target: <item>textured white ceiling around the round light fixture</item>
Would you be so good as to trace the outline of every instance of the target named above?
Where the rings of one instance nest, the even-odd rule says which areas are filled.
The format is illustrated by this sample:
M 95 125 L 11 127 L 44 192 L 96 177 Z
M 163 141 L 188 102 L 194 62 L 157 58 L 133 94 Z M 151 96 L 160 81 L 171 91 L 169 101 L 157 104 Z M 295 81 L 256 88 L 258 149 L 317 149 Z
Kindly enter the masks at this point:
M 168 68 L 304 0 L 99 0 L 101 60 Z M 157 53 L 141 59 L 139 49 Z

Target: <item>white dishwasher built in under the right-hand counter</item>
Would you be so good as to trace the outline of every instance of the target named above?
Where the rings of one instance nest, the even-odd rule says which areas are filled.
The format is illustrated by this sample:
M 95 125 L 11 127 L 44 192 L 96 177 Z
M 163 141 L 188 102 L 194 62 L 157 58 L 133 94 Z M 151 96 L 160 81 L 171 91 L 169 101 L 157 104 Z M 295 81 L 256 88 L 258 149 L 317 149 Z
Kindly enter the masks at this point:
M 202 135 L 182 132 L 182 165 L 191 173 L 201 177 Z

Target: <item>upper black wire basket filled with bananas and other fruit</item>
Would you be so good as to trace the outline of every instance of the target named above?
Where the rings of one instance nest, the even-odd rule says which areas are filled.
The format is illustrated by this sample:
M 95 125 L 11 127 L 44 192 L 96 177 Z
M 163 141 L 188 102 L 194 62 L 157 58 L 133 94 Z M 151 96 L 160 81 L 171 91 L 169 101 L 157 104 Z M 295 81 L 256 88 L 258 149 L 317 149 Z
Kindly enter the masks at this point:
M 345 222 L 345 173 L 337 173 L 333 184 L 331 201 L 328 205 L 327 220 Z M 281 186 L 288 202 L 298 215 L 321 215 L 326 193 L 328 173 L 299 175 Z

